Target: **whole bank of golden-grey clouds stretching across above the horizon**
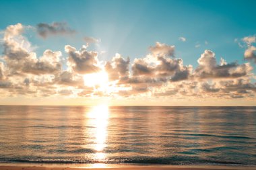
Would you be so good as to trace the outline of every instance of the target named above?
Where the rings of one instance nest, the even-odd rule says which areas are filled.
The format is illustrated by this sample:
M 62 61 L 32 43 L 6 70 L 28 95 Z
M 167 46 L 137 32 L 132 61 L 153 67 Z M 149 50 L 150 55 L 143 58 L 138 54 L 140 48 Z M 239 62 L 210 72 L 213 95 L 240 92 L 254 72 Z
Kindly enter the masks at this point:
M 24 32 L 26 26 L 22 24 L 8 26 L 4 31 L 1 96 L 255 99 L 256 84 L 252 83 L 255 76 L 250 63 L 227 62 L 224 58 L 217 61 L 211 50 L 199 56 L 195 68 L 184 65 L 182 58 L 174 57 L 173 45 L 160 42 L 150 46 L 149 54 L 141 58 L 130 60 L 117 53 L 111 60 L 102 61 L 98 59 L 98 52 L 88 50 L 88 45 L 96 42 L 92 38 L 79 50 L 65 46 L 67 60 L 63 60 L 60 51 L 46 49 L 43 54 L 36 54 Z M 47 30 L 43 35 L 46 38 L 64 34 L 53 32 Z M 254 40 L 245 38 L 245 42 L 249 44 L 245 59 L 255 60 Z M 108 74 L 105 89 L 85 85 L 84 75 L 102 71 Z

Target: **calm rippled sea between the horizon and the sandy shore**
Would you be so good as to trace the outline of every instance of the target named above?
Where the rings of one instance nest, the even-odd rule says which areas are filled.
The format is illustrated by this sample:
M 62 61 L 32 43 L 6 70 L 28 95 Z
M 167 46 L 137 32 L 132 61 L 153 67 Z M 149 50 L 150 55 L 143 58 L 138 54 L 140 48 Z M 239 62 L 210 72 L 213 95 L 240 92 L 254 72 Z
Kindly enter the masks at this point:
M 256 108 L 1 105 L 0 162 L 256 165 Z

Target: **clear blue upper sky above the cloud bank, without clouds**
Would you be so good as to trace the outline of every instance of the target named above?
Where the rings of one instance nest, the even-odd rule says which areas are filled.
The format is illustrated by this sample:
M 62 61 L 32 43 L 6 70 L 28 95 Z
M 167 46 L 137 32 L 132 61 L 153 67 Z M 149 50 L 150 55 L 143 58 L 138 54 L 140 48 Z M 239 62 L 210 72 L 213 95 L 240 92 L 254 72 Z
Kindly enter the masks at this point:
M 255 6 L 256 1 L 1 1 L 0 26 L 67 22 L 77 32 L 75 38 L 28 37 L 39 54 L 50 47 L 63 51 L 66 44 L 80 48 L 82 38 L 92 36 L 101 39 L 104 60 L 116 52 L 139 58 L 158 41 L 175 45 L 177 57 L 196 66 L 205 49 L 218 60 L 243 61 L 245 49 L 234 39 L 255 34 Z

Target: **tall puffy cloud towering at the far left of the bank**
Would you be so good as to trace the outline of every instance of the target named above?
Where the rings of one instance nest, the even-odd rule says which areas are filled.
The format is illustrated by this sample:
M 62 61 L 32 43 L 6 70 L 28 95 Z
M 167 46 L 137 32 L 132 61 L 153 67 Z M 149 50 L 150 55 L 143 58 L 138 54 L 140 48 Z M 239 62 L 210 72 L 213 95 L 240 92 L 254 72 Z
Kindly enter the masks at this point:
M 22 36 L 24 26 L 16 24 L 5 30 L 3 58 L 8 66 L 8 76 L 19 74 L 52 74 L 61 71 L 61 52 L 45 50 L 41 58 L 31 51 L 28 40 Z

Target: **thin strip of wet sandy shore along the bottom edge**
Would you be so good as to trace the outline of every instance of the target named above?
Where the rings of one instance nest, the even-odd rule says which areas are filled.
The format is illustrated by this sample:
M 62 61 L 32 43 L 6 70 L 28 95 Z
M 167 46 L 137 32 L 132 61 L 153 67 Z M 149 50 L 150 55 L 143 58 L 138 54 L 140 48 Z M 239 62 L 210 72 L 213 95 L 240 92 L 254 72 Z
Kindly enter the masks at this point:
M 42 165 L 42 164 L 0 164 L 0 170 L 220 170 L 220 169 L 254 169 L 256 166 L 218 166 L 218 165 Z

